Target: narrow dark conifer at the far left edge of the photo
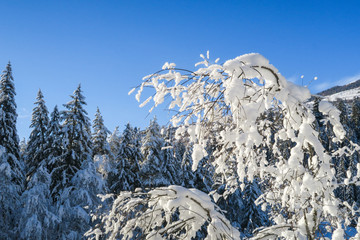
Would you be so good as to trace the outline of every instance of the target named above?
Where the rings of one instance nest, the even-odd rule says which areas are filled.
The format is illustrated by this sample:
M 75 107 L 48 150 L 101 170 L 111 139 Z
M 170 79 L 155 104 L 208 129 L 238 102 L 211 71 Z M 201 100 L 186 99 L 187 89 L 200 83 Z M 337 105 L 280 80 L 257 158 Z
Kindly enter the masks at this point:
M 18 184 L 23 182 L 22 163 L 19 161 L 19 137 L 16 130 L 16 103 L 15 85 L 12 76 L 11 64 L 1 75 L 0 81 L 0 146 L 5 147 L 8 153 L 8 161 L 12 170 L 16 173 L 14 181 Z

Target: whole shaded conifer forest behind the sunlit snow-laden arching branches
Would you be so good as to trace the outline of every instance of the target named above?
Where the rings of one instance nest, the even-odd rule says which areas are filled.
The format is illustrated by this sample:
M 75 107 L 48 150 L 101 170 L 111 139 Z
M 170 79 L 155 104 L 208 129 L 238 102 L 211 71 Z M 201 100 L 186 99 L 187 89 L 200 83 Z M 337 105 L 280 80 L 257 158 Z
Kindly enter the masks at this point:
M 227 174 L 212 164 L 217 146 L 208 144 L 207 156 L 192 170 L 192 146 L 187 137 L 175 138 L 176 128 L 161 127 L 156 118 L 140 130 L 126 124 L 122 133 L 110 132 L 97 109 L 91 123 L 85 110 L 81 86 L 74 91 L 64 110 L 49 113 L 44 96 L 38 92 L 32 113 L 31 134 L 19 144 L 16 130 L 15 87 L 11 65 L 0 82 L 0 239 L 81 239 L 89 229 L 99 228 L 101 216 L 108 214 L 114 197 L 122 192 L 146 192 L 155 187 L 180 185 L 209 194 L 224 210 L 231 224 L 251 236 L 256 228 L 272 224 L 269 209 L 255 201 L 268 186 L 254 179 L 240 182 L 237 166 L 228 161 Z M 339 179 L 356 175 L 359 153 L 353 143 L 360 142 L 360 100 L 350 106 L 339 101 L 341 122 L 347 139 L 337 146 L 330 141 L 333 128 L 319 111 L 315 99 L 314 127 L 326 149 L 334 153 L 333 164 Z M 272 124 L 272 133 L 281 128 L 281 112 L 263 116 Z M 289 155 L 291 141 L 273 141 L 281 155 Z M 351 157 L 338 153 L 348 146 Z M 271 163 L 279 153 L 263 151 Z M 312 157 L 304 151 L 304 162 Z M 360 190 L 348 184 L 336 191 L 338 198 L 351 205 L 360 203 Z M 105 200 L 104 200 L 105 199 Z M 353 219 L 354 224 L 356 219 Z M 100 226 L 101 227 L 101 226 Z M 206 237 L 200 232 L 197 238 Z

